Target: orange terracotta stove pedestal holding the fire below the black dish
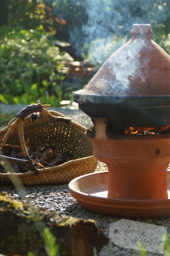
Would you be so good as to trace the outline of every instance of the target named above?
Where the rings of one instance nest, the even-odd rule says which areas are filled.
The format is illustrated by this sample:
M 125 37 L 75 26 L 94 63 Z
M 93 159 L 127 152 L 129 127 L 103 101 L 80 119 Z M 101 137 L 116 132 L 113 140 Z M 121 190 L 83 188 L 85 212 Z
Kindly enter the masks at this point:
M 106 118 L 93 118 L 93 154 L 108 168 L 108 198 L 167 199 L 169 134 L 112 135 Z

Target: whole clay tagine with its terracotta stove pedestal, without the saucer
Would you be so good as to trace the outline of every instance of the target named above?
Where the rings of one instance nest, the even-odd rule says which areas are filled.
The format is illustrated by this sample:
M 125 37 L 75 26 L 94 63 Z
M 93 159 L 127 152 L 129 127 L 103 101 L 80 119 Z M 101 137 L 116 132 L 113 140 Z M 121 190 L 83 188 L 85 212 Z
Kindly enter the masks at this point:
M 92 118 L 93 154 L 108 167 L 108 198 L 167 199 L 169 133 L 125 135 L 125 128 L 169 125 L 169 55 L 148 24 L 112 54 L 74 101 Z

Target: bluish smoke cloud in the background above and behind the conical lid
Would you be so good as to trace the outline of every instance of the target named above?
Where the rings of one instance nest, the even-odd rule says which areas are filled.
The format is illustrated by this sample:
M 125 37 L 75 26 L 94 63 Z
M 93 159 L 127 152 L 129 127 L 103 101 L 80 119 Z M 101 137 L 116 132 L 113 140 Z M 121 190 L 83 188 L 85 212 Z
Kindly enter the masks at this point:
M 93 63 L 102 64 L 114 51 L 130 39 L 130 29 L 135 23 L 151 24 L 152 27 L 161 24 L 168 17 L 168 1 L 152 0 L 83 0 L 70 1 L 83 6 L 78 24 L 69 29 L 71 45 L 77 55 L 82 54 L 82 46 L 88 46 Z M 160 10 L 160 3 L 162 7 Z M 82 19 L 82 15 L 84 19 Z M 155 23 L 157 22 L 157 24 Z M 116 45 L 113 43 L 117 36 Z M 121 40 L 124 38 L 124 40 Z M 95 44 L 95 40 L 98 43 Z M 113 44 L 111 47 L 110 44 Z M 117 45 L 118 44 L 118 45 Z M 108 53 L 106 49 L 108 48 Z M 103 57 L 105 52 L 105 58 Z

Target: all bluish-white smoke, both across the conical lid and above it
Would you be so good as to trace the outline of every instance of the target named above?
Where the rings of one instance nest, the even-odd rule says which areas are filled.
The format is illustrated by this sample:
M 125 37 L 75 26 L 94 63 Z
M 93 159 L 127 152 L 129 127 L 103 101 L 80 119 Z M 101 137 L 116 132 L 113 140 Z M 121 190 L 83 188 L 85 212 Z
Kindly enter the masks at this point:
M 55 1 L 54 1 L 55 2 Z M 63 1 L 57 1 L 62 2 Z M 107 58 L 125 44 L 130 38 L 132 25 L 151 24 L 161 27 L 169 16 L 169 1 L 158 0 L 71 0 L 66 1 L 79 19 L 70 19 L 68 26 L 69 43 L 77 56 L 88 56 L 93 64 L 100 66 Z M 69 3 L 69 4 L 68 4 Z M 70 7 L 69 7 L 70 6 Z M 64 13 L 63 13 L 64 15 Z M 67 17 L 64 17 L 67 20 Z M 75 23 L 74 23 L 75 22 Z M 163 28 L 162 28 L 163 29 Z M 108 93 L 114 89 L 117 95 L 124 95 L 129 90 L 129 78 L 145 77 L 140 71 L 140 50 L 145 42 L 139 38 L 110 63 L 110 73 L 114 74 L 114 83 L 105 78 L 96 81 L 96 89 L 105 89 Z M 83 56 L 83 57 L 84 57 Z M 145 60 L 145 66 L 147 62 Z M 119 63 L 119 65 L 117 65 Z M 92 93 L 92 91 L 91 91 Z

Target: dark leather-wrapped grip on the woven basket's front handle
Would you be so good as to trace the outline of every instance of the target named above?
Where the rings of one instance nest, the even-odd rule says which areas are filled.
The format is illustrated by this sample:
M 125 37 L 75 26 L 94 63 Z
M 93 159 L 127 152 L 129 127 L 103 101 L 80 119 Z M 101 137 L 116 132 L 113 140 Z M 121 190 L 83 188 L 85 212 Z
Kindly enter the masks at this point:
M 24 118 L 26 116 L 29 116 L 30 114 L 33 114 L 34 112 L 41 112 L 42 111 L 42 105 L 40 103 L 29 105 L 23 109 L 21 109 L 16 117 L 19 117 L 22 121 L 24 121 Z

